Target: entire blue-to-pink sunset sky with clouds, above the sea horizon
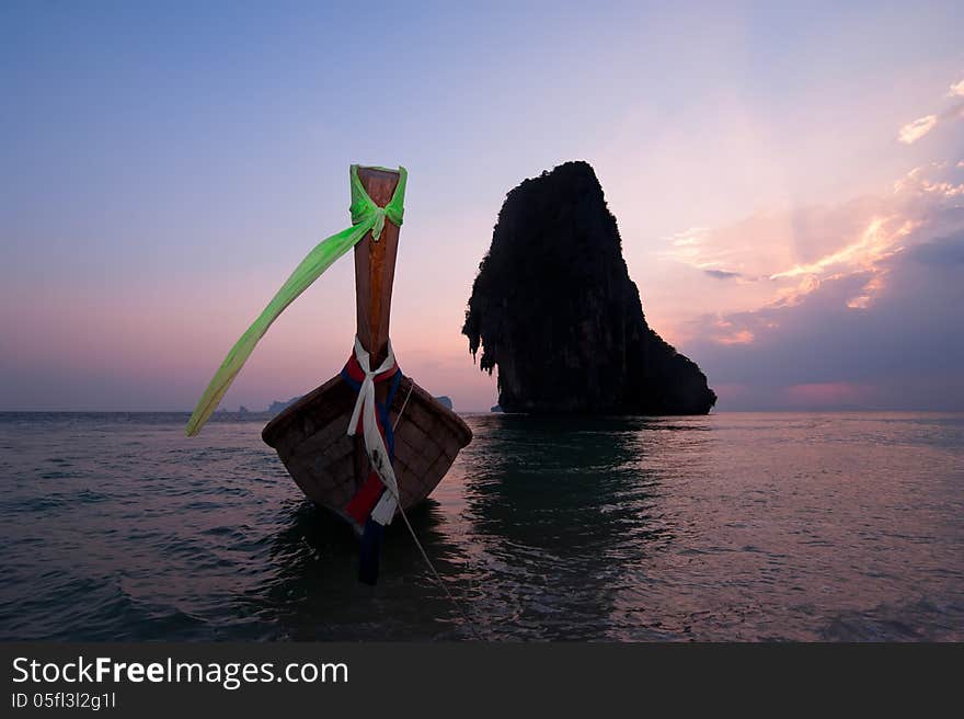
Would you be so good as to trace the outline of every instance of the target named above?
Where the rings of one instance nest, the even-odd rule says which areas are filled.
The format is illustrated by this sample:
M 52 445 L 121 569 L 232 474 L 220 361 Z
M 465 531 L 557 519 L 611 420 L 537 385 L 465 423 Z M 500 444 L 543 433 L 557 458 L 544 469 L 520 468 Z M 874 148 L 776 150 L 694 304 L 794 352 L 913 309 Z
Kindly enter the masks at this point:
M 726 7 L 724 7 L 726 5 Z M 402 369 L 457 410 L 505 194 L 593 164 L 650 324 L 725 410 L 964 410 L 960 2 L 0 3 L 0 411 L 185 410 L 409 170 Z M 336 263 L 222 407 L 320 385 Z

